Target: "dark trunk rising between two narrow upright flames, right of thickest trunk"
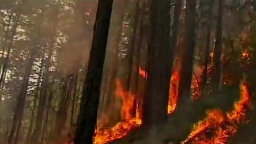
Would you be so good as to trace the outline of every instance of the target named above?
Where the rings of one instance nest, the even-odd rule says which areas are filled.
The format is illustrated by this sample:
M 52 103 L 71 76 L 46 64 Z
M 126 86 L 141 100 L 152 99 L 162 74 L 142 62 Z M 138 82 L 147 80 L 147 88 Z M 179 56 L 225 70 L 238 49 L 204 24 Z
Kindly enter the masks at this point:
M 180 97 L 183 94 L 190 95 L 191 83 L 192 83 L 192 71 L 193 71 L 193 57 L 195 49 L 196 39 L 196 1 L 189 0 L 186 2 L 185 9 L 185 24 L 183 34 L 183 51 L 182 51 L 182 68 L 181 79 L 179 83 L 178 95 Z

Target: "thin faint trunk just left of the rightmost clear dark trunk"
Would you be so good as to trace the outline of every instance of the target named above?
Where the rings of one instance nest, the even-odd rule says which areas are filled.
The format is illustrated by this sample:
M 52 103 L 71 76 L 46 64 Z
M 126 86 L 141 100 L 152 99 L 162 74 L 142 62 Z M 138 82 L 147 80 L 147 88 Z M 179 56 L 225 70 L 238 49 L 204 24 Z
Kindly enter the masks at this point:
M 210 8 L 209 8 L 209 22 L 208 22 L 208 27 L 207 27 L 207 40 L 206 40 L 206 47 L 204 50 L 204 56 L 205 56 L 205 61 L 203 64 L 203 74 L 202 74 L 202 87 L 204 88 L 206 83 L 207 83 L 207 76 L 208 76 L 208 63 L 209 63 L 209 56 L 210 56 L 210 42 L 211 42 L 211 29 L 212 29 L 212 7 L 213 7 L 213 2 L 210 3 Z

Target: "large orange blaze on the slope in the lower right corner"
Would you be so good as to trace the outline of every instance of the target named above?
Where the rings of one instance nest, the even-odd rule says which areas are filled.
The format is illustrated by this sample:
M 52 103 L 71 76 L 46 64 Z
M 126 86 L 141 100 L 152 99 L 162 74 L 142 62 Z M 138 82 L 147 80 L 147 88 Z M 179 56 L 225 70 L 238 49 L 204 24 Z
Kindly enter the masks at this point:
M 198 122 L 182 144 L 226 144 L 236 134 L 250 107 L 250 94 L 245 81 L 240 86 L 240 100 L 234 110 L 224 114 L 219 109 L 211 110 L 203 121 Z M 207 134 L 210 134 L 207 135 Z

